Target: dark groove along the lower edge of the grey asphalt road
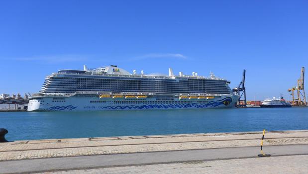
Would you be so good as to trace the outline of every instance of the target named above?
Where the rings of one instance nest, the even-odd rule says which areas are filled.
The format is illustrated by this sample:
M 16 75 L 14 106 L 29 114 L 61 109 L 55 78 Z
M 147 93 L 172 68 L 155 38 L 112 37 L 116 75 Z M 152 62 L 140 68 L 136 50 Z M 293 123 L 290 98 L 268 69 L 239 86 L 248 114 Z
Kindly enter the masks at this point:
M 271 157 L 289 157 L 289 156 L 303 156 L 303 155 L 308 155 L 308 154 L 305 153 L 305 154 L 272 155 Z M 91 169 L 133 167 L 133 166 L 150 166 L 150 165 L 177 164 L 177 163 L 198 163 L 198 162 L 207 162 L 207 161 L 239 160 L 239 159 L 253 159 L 253 158 L 260 158 L 260 157 L 256 155 L 256 156 L 249 156 L 249 157 L 220 158 L 220 159 L 208 159 L 208 160 L 190 160 L 190 161 L 172 161 L 172 162 L 161 162 L 161 163 L 141 163 L 141 164 L 133 164 L 133 165 L 113 165 L 113 166 L 102 166 L 102 167 L 72 168 L 72 169 L 33 171 L 30 173 L 26 172 L 26 173 L 7 173 L 7 174 L 35 174 L 35 173 L 64 172 L 64 171 L 66 172 L 66 171 L 77 171 L 77 170 L 91 170 Z

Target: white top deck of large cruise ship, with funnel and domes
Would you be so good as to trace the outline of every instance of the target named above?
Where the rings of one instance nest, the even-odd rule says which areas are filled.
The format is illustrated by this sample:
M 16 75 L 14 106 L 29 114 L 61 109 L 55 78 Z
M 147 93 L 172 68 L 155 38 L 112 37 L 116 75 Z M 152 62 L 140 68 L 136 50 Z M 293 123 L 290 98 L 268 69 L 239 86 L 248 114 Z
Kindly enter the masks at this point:
M 99 67 L 96 69 L 88 69 L 84 65 L 84 70 L 59 70 L 56 74 L 71 74 L 71 75 L 85 75 L 85 76 L 109 76 L 109 77 L 130 77 L 130 78 L 155 78 L 155 79 L 210 79 L 210 80 L 225 80 L 219 77 L 216 77 L 212 72 L 209 77 L 200 76 L 198 73 L 193 72 L 192 75 L 185 75 L 183 72 L 180 72 L 179 75 L 174 75 L 173 70 L 169 68 L 169 75 L 160 74 L 160 73 L 151 73 L 144 74 L 144 71 L 141 71 L 141 74 L 136 73 L 136 70 L 133 70 L 133 73 L 130 73 L 122 68 L 118 68 L 115 65 Z

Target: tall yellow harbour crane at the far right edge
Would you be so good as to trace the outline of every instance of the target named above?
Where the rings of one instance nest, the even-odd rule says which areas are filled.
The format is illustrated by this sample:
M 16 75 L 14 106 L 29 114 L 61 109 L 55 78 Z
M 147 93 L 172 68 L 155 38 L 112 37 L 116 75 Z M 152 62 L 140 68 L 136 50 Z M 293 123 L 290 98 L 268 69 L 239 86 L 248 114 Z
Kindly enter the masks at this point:
M 292 92 L 292 105 L 307 106 L 304 79 L 305 67 L 302 67 L 301 78 L 298 79 L 298 85 L 296 87 L 288 89 L 289 92 Z M 301 97 L 303 97 L 303 100 Z

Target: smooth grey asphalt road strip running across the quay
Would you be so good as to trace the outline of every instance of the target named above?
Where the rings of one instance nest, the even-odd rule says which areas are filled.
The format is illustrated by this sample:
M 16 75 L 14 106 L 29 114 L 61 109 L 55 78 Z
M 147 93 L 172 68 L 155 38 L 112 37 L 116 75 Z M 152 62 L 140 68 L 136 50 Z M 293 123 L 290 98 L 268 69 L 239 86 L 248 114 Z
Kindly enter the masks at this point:
M 263 147 L 263 151 L 272 156 L 307 155 L 308 145 L 265 146 Z M 258 154 L 260 154 L 260 147 L 238 147 L 17 160 L 0 162 L 0 173 L 34 173 L 130 165 L 254 158 Z

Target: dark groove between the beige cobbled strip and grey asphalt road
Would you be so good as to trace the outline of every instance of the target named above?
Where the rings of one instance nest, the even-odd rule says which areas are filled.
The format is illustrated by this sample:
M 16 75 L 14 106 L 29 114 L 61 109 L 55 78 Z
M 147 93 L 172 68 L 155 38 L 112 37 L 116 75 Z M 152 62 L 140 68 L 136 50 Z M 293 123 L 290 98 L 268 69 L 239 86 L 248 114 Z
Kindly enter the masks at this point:
M 268 145 L 263 147 L 275 147 L 275 146 L 303 146 L 308 144 L 296 144 L 296 145 Z M 260 146 L 244 146 L 244 147 L 224 147 L 224 148 L 200 148 L 200 149 L 182 149 L 182 150 L 171 150 L 171 151 L 150 151 L 150 152 L 125 152 L 116 154 L 94 154 L 94 155 L 75 155 L 75 156 L 65 156 L 65 157 L 48 157 L 48 158 L 25 158 L 21 160 L 0 160 L 0 162 L 11 162 L 11 161 L 24 161 L 24 160 L 39 160 L 39 159 L 56 159 L 56 158 L 70 158 L 70 157 L 90 157 L 90 156 L 107 156 L 107 155 L 122 155 L 122 154 L 146 154 L 146 153 L 157 153 L 157 152 L 181 152 L 181 151 L 198 151 L 198 150 L 213 150 L 213 149 L 237 149 L 237 148 L 260 148 Z

